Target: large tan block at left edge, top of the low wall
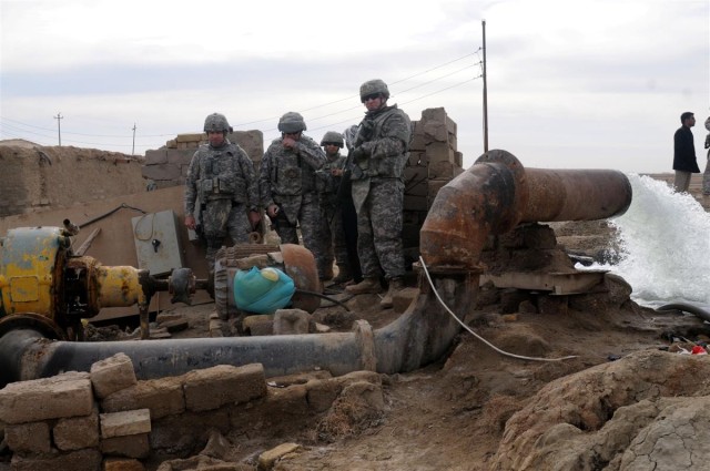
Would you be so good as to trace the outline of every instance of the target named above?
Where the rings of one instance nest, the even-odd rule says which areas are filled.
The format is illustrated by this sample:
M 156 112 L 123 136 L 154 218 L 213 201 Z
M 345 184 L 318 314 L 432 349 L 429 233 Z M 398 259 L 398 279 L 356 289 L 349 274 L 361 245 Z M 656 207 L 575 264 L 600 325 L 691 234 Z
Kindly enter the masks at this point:
M 0 420 L 37 422 L 89 416 L 93 392 L 88 372 L 70 371 L 52 378 L 11 382 L 0 390 Z

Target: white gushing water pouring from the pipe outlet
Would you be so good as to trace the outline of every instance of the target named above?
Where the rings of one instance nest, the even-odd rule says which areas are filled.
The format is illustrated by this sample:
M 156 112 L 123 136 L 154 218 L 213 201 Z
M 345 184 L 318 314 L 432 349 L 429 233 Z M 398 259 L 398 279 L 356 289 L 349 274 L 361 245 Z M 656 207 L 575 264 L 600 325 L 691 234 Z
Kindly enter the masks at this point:
M 631 298 L 642 306 L 679 299 L 710 304 L 710 213 L 665 182 L 628 177 L 631 206 L 610 221 L 621 260 L 606 268 L 631 285 Z

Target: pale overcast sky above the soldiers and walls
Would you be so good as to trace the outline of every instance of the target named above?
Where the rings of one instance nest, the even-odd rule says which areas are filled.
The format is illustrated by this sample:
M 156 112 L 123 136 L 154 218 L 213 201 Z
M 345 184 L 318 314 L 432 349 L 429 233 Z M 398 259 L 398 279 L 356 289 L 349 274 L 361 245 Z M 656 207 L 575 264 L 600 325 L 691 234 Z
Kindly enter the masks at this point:
M 320 141 L 359 122 L 359 84 L 379 78 L 412 120 L 444 106 L 469 166 L 484 20 L 489 149 L 671 172 L 692 111 L 704 168 L 709 0 L 0 0 L 0 139 L 55 145 L 59 124 L 62 145 L 143 154 L 221 112 L 268 143 L 298 111 Z

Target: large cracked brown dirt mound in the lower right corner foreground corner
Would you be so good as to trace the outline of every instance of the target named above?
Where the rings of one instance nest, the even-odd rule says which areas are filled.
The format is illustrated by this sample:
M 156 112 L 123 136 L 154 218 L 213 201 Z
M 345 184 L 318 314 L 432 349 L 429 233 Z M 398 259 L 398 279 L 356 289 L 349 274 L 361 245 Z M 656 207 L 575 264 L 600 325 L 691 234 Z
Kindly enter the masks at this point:
M 709 373 L 707 357 L 646 350 L 556 380 L 507 421 L 490 469 L 698 469 Z

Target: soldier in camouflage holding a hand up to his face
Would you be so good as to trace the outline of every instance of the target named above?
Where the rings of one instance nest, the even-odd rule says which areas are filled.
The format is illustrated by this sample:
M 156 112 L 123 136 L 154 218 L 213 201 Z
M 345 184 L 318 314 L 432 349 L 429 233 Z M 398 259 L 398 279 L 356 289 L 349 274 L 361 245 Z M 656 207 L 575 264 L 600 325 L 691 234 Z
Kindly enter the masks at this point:
M 260 170 L 261 201 L 275 226 L 282 244 L 298 244 L 301 226 L 303 244 L 313 253 L 322 280 L 333 278 L 333 263 L 327 264 L 318 243 L 321 224 L 315 173 L 325 164 L 325 153 L 317 142 L 303 134 L 303 116 L 288 112 L 278 120 L 281 137 L 274 140 Z

